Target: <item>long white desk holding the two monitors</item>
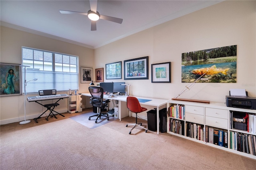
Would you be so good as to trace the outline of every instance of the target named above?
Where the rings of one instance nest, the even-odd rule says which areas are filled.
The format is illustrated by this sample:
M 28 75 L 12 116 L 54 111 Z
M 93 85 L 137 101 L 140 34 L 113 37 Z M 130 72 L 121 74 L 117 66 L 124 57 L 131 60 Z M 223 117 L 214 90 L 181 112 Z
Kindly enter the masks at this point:
M 83 96 L 91 96 L 90 93 L 82 93 Z M 156 111 L 156 120 L 158 120 L 158 123 L 157 123 L 157 134 L 159 134 L 159 107 L 165 105 L 167 103 L 167 100 L 164 100 L 164 99 L 156 99 L 156 98 L 144 98 L 144 97 L 137 97 L 137 96 L 134 96 L 138 99 L 145 99 L 145 100 L 150 100 L 148 102 L 140 102 L 141 105 L 148 105 L 148 106 L 154 106 L 156 107 L 157 111 Z M 104 99 L 109 99 L 109 100 L 118 100 L 118 118 L 119 120 L 121 121 L 122 118 L 126 117 L 126 116 L 129 116 L 129 113 L 127 113 L 127 106 L 126 106 L 126 99 L 127 99 L 127 96 L 124 96 L 124 95 L 118 95 L 118 96 L 115 96 L 114 98 L 110 98 L 107 94 L 104 94 L 103 95 L 103 98 Z M 122 103 L 122 102 L 125 102 Z

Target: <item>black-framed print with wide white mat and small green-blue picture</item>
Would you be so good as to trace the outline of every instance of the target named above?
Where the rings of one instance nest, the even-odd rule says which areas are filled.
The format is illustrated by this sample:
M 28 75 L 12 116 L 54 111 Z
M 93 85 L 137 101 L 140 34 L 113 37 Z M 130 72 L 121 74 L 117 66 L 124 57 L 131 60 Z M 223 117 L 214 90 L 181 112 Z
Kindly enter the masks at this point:
M 171 82 L 171 62 L 151 64 L 152 83 Z

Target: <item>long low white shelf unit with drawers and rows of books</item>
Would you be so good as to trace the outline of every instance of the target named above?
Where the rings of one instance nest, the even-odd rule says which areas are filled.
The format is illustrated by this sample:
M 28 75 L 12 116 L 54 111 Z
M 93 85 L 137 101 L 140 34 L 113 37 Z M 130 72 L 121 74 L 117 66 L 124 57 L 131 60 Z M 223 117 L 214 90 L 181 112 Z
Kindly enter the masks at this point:
M 184 106 L 184 118 L 179 118 L 179 117 L 170 117 L 170 107 L 171 106 Z M 182 138 L 186 138 L 188 140 L 193 140 L 195 142 L 199 142 L 201 144 L 206 144 L 208 146 L 212 146 L 214 148 L 219 148 L 222 150 L 226 150 L 228 152 L 232 152 L 235 154 L 239 154 L 242 156 L 246 156 L 252 159 L 256 159 L 256 156 L 254 156 L 253 154 L 248 154 L 246 152 L 240 152 L 236 149 L 234 149 L 234 145 L 231 146 L 231 139 L 230 139 L 230 135 L 232 134 L 232 132 L 236 132 L 238 134 L 245 134 L 247 136 L 252 136 L 254 138 L 256 138 L 256 120 L 254 120 L 254 125 L 249 125 L 250 126 L 254 126 L 254 133 L 250 133 L 248 131 L 245 130 L 238 130 L 238 129 L 234 129 L 232 128 L 231 124 L 232 124 L 232 114 L 231 112 L 245 112 L 251 115 L 254 115 L 254 119 L 256 119 L 256 110 L 250 110 L 250 109 L 243 109 L 243 108 L 232 108 L 232 107 L 227 107 L 224 103 L 210 103 L 210 104 L 204 104 L 204 103 L 198 103 L 198 102 L 185 102 L 185 101 L 179 101 L 179 100 L 168 100 L 167 102 L 167 113 L 168 113 L 168 119 L 167 119 L 167 133 L 175 135 L 175 136 L 179 136 Z M 183 128 L 181 128 L 182 130 L 184 130 L 183 132 L 176 132 L 175 128 L 174 131 L 173 129 L 171 129 L 171 131 L 169 130 L 169 127 L 171 127 L 171 121 L 172 122 L 176 121 L 179 122 L 180 124 L 182 124 Z M 171 123 L 170 123 L 171 122 Z M 189 135 L 189 128 L 187 131 L 187 126 L 191 124 L 196 124 L 199 125 L 201 128 L 203 128 L 203 131 L 201 131 L 203 134 L 200 135 L 200 140 L 198 138 L 195 138 L 194 136 Z M 182 127 L 181 126 L 181 127 Z M 198 127 L 199 127 L 198 126 Z M 206 142 L 206 126 L 210 127 L 210 128 L 214 128 L 215 130 L 220 130 L 223 132 L 228 132 L 228 140 L 227 140 L 227 146 L 219 146 L 217 144 L 214 143 L 210 143 Z M 179 127 L 179 126 L 178 126 Z M 190 126 L 191 127 L 191 126 Z M 193 129 L 194 130 L 194 129 Z M 198 131 L 199 132 L 199 131 Z M 196 132 L 195 132 L 196 133 Z M 209 134 L 209 131 L 208 131 Z M 209 140 L 209 137 L 208 137 Z M 212 139 L 213 140 L 213 139 Z M 223 142 L 224 143 L 224 142 Z M 255 143 L 255 147 L 256 147 L 256 143 Z

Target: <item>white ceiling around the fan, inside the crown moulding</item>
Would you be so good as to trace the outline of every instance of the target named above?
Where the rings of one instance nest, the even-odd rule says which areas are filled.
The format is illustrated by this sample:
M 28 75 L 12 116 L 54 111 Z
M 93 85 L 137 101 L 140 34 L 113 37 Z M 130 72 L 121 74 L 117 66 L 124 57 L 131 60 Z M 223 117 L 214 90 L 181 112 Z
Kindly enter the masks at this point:
M 59 10 L 87 13 L 88 0 L 0 0 L 1 25 L 88 48 L 140 32 L 221 1 L 216 0 L 98 0 L 97 11 L 122 18 L 122 24 L 97 21 L 91 31 L 90 19 Z

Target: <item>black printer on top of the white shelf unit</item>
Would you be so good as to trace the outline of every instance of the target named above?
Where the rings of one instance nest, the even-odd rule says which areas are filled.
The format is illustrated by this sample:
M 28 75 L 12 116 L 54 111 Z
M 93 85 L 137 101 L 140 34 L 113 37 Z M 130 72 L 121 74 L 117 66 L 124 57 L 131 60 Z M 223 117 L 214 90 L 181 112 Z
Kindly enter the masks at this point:
M 244 108 L 256 110 L 256 98 L 226 96 L 226 106 L 233 108 Z

